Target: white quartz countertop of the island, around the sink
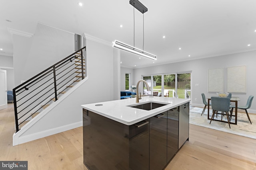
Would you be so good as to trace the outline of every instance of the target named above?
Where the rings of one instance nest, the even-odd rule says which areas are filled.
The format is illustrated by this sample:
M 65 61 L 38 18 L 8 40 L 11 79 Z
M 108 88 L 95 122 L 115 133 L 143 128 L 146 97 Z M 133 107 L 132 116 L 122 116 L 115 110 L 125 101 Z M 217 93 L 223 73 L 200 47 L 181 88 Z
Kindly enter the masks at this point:
M 156 102 L 167 105 L 152 110 L 143 110 L 134 107 L 129 107 L 140 104 L 146 104 L 149 102 Z M 125 125 L 132 125 L 134 123 L 138 123 L 139 121 L 158 115 L 159 113 L 180 106 L 187 102 L 190 102 L 190 99 L 144 96 L 142 97 L 142 99 L 140 99 L 139 103 L 136 103 L 136 98 L 130 98 L 123 100 L 113 100 L 108 102 L 99 102 L 94 104 L 84 104 L 81 106 L 84 109 L 102 115 L 104 117 L 108 117 L 112 120 L 118 121 Z

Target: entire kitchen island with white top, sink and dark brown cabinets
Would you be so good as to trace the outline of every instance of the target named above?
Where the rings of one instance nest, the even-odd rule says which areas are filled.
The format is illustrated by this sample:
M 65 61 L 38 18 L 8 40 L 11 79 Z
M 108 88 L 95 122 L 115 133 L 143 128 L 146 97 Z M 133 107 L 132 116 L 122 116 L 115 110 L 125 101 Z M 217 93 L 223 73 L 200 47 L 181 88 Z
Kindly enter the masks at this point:
M 162 170 L 188 140 L 190 99 L 142 97 L 82 105 L 89 170 Z

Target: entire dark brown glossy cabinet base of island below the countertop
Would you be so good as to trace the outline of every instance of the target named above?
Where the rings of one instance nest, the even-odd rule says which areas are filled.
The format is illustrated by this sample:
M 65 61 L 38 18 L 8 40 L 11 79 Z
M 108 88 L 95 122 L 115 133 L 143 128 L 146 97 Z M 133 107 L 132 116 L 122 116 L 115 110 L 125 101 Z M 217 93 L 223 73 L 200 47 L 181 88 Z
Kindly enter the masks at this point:
M 188 139 L 189 102 L 124 125 L 83 109 L 84 164 L 89 170 L 162 170 Z

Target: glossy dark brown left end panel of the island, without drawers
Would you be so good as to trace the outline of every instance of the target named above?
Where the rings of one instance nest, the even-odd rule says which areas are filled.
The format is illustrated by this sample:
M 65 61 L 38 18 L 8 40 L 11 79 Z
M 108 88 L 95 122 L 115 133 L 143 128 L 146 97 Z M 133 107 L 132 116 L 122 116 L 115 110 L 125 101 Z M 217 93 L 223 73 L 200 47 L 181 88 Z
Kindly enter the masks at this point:
M 83 109 L 83 147 L 89 170 L 129 170 L 129 126 Z

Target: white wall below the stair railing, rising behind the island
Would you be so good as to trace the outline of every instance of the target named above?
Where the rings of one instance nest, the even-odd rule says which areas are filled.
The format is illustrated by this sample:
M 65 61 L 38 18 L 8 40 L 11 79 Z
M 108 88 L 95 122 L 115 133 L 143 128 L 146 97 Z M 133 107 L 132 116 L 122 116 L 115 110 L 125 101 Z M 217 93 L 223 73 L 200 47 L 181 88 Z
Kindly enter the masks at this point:
M 86 39 L 86 61 L 88 80 L 64 94 L 65 100 L 60 98 L 55 105 L 47 107 L 50 111 L 38 115 L 41 119 L 34 119 L 36 123 L 32 127 L 25 125 L 24 129 L 14 134 L 14 145 L 82 126 L 81 105 L 114 100 L 113 68 L 116 66 L 113 64 L 113 48 Z

